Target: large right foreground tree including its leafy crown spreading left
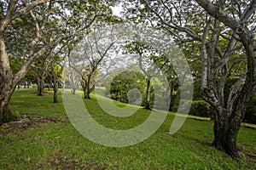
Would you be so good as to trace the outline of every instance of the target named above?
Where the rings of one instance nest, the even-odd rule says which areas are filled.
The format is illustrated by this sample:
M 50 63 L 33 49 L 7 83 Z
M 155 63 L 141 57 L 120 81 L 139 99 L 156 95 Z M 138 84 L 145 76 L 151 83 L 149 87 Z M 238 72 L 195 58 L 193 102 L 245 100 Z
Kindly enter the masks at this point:
M 245 105 L 256 88 L 253 37 L 256 1 L 213 3 L 215 1 L 196 0 L 203 9 L 190 1 L 142 2 L 141 17 L 157 23 L 155 26 L 168 31 L 177 42 L 201 43 L 201 93 L 215 111 L 212 145 L 230 156 L 238 156 L 237 133 Z M 239 44 L 243 48 L 239 48 Z M 225 100 L 224 87 L 230 60 L 242 53 L 247 54 L 247 71 L 233 84 L 229 98 Z

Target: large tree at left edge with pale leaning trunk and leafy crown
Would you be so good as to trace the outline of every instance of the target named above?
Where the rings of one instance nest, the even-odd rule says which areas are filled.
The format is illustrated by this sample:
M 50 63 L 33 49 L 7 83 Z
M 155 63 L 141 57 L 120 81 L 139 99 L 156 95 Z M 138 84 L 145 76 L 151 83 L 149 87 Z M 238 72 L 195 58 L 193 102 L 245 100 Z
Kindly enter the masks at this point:
M 79 32 L 88 28 L 96 17 L 102 15 L 100 13 L 105 9 L 103 3 L 95 2 L 57 3 L 48 0 L 31 2 L 10 0 L 3 3 L 0 20 L 0 124 L 16 119 L 9 110 L 9 100 L 17 83 L 26 76 L 35 59 L 41 57 L 50 48 L 55 48 L 61 41 L 77 36 Z M 24 22 L 30 24 L 24 25 Z M 51 32 L 50 25 L 53 23 L 58 31 L 50 36 L 49 44 L 44 44 L 44 37 L 49 37 L 46 35 L 48 31 Z M 29 31 L 33 33 L 28 34 Z M 30 36 L 20 38 L 22 33 Z M 19 46 L 23 46 L 23 50 L 15 51 L 15 47 L 20 49 Z M 10 54 L 24 59 L 24 63 L 16 73 L 12 72 L 9 64 Z

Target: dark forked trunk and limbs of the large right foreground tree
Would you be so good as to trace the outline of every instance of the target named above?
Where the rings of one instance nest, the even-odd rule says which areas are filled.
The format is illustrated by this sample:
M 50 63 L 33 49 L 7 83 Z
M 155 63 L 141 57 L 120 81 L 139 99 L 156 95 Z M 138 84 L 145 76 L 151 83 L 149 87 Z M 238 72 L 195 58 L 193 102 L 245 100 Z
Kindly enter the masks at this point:
M 229 3 L 214 4 L 207 0 L 196 0 L 196 2 L 213 17 L 207 22 L 204 29 L 205 36 L 201 46 L 203 65 L 202 95 L 207 102 L 213 105 L 216 111 L 214 115 L 213 145 L 219 150 L 225 150 L 231 156 L 238 156 L 236 147 L 237 133 L 241 127 L 246 104 L 252 99 L 256 90 L 256 43 L 255 37 L 253 37 L 253 26 L 250 25 L 256 9 L 256 1 L 252 0 L 244 7 L 239 7 L 241 4 L 236 2 L 237 8 Z M 221 8 L 221 5 L 224 8 Z M 227 8 L 236 10 L 237 14 L 227 14 L 225 11 Z M 210 29 L 211 20 L 214 20 L 212 21 L 214 30 L 212 31 L 212 42 L 208 42 L 206 32 Z M 215 53 L 218 53 L 218 46 L 216 44 L 218 44 L 218 39 L 222 34 L 218 31 L 221 23 L 231 29 L 232 36 L 228 38 L 228 48 L 224 54 L 219 54 L 220 59 L 217 60 L 214 57 Z M 243 50 L 247 55 L 247 71 L 231 87 L 229 99 L 225 102 L 224 81 L 227 76 L 227 62 L 232 54 L 234 54 L 236 43 L 238 42 L 242 43 Z M 216 82 L 218 71 L 222 72 L 217 88 L 214 82 Z

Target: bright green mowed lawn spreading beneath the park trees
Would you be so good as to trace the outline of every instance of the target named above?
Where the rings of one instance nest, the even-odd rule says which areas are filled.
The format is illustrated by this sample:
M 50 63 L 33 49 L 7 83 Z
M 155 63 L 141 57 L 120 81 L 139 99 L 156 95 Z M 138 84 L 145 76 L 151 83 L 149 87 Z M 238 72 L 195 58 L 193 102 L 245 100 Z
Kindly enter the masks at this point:
M 29 114 L 50 119 L 28 127 L 24 123 L 0 127 L 0 169 L 256 169 L 255 158 L 244 156 L 234 160 L 212 148 L 212 122 L 195 120 L 195 117 L 187 118 L 183 127 L 171 136 L 166 132 L 174 114 L 169 114 L 160 129 L 142 143 L 121 148 L 95 144 L 68 121 L 61 94 L 60 103 L 53 104 L 51 94 L 36 96 L 35 91 L 16 91 L 11 110 L 21 117 Z M 105 127 L 130 128 L 150 114 L 140 109 L 133 116 L 115 118 L 102 111 L 94 96 L 84 100 L 84 104 Z M 237 144 L 253 155 L 256 154 L 255 134 L 255 129 L 241 127 L 237 139 Z

